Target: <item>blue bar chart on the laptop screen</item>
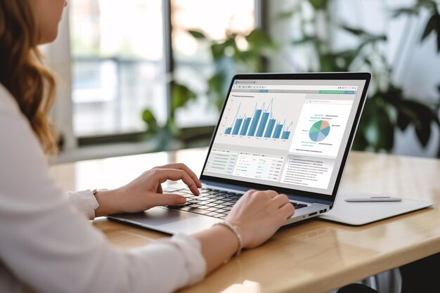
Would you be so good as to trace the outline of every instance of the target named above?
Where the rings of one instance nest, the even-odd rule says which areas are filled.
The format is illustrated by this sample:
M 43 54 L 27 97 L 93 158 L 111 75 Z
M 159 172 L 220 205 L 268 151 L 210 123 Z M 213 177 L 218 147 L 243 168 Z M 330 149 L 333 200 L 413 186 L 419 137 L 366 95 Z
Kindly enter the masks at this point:
M 233 122 L 229 124 L 225 135 L 248 136 L 256 138 L 275 138 L 287 140 L 290 138 L 292 122 L 287 124 L 286 119 L 281 119 L 273 113 L 273 99 L 266 106 L 266 103 L 259 105 L 255 103 L 252 114 L 248 117 L 241 111 L 241 103 L 238 106 Z

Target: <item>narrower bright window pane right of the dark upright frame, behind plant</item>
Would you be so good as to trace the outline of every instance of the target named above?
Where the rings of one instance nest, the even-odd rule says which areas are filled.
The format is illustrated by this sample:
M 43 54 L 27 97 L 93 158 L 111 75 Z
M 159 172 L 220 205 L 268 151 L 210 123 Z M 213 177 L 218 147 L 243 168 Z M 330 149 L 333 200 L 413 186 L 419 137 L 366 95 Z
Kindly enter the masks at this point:
M 222 41 L 227 33 L 251 32 L 255 24 L 254 0 L 173 0 L 172 46 L 176 82 L 195 93 L 206 91 L 207 79 L 214 73 L 209 45 L 198 42 L 188 30 L 203 32 L 209 39 Z M 216 124 L 218 111 L 203 94 L 176 113 L 181 126 Z

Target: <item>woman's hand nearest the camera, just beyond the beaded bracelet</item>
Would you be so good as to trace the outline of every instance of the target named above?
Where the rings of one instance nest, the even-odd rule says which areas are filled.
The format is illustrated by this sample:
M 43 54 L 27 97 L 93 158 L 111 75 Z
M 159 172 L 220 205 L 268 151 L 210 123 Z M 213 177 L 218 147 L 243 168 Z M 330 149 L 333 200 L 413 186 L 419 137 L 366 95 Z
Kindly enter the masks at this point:
M 253 248 L 268 240 L 294 213 L 287 195 L 273 190 L 249 190 L 233 206 L 225 221 L 237 227 L 243 248 Z

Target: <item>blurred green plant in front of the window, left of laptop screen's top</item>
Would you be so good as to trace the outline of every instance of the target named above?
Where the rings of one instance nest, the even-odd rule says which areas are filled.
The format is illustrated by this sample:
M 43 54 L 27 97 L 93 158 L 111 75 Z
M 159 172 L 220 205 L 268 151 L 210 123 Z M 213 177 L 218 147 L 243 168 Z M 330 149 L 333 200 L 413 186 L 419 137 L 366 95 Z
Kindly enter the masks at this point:
M 226 32 L 226 39 L 223 41 L 213 41 L 199 31 L 189 31 L 189 33 L 199 41 L 207 43 L 212 53 L 214 74 L 207 79 L 208 90 L 206 93 L 195 93 L 188 86 L 173 81 L 172 107 L 166 125 L 160 127 L 150 109 L 143 111 L 142 117 L 148 126 L 148 134 L 156 134 L 164 130 L 169 136 L 179 136 L 181 129 L 174 123 L 176 110 L 197 98 L 198 94 L 207 95 L 212 105 L 221 109 L 233 74 L 264 71 L 264 58 L 270 58 L 278 49 L 271 38 L 258 29 L 252 30 L 250 34 Z M 245 44 L 245 48 L 240 48 L 238 45 L 240 41 Z

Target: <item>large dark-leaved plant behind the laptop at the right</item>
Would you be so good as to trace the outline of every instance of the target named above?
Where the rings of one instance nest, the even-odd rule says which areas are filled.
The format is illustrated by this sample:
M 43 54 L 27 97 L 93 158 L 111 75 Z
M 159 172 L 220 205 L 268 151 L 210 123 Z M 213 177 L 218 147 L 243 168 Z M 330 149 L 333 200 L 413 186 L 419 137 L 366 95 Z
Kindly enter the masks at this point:
M 415 98 L 404 96 L 401 87 L 394 84 L 390 78 L 393 68 L 380 50 L 380 45 L 386 44 L 386 36 L 384 34 L 370 34 L 359 27 L 349 27 L 341 23 L 334 18 L 329 9 L 331 2 L 332 0 L 299 1 L 291 11 L 281 13 L 279 18 L 284 20 L 294 17 L 301 20 L 302 37 L 292 41 L 292 46 L 295 48 L 305 46 L 311 54 L 313 52 L 316 56 L 306 67 L 306 71 L 367 70 L 373 73 L 375 84 L 373 84 L 370 96 L 365 103 L 353 148 L 355 150 L 389 152 L 394 147 L 396 129 L 403 131 L 410 125 L 414 127 L 420 144 L 425 147 L 431 137 L 432 124 L 439 126 L 439 118 L 436 115 L 438 111 L 420 103 Z M 306 13 L 303 10 L 307 4 L 309 4 L 309 8 L 313 9 L 314 18 L 304 16 Z M 432 17 L 427 23 L 421 40 L 432 32 L 436 32 L 440 46 L 440 15 L 435 1 L 419 0 L 414 7 L 399 9 L 394 14 L 396 16 L 402 13 L 413 15 L 419 13 L 423 7 L 432 11 Z M 316 15 L 323 17 L 316 17 Z M 306 30 L 306 27 L 309 30 Z M 325 27 L 328 32 L 319 34 L 318 27 Z M 331 35 L 335 30 L 343 30 L 356 37 L 358 45 L 342 50 L 334 49 Z

